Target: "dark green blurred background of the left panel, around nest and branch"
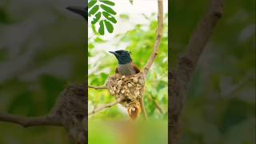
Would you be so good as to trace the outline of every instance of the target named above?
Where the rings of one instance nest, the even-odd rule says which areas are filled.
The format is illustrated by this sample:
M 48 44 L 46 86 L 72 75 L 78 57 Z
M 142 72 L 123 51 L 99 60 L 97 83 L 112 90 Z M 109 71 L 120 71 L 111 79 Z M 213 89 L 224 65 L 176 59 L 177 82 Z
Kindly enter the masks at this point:
M 0 1 L 0 111 L 48 114 L 68 85 L 85 82 L 86 26 L 66 6 L 82 0 Z M 64 128 L 0 122 L 0 144 L 70 143 Z

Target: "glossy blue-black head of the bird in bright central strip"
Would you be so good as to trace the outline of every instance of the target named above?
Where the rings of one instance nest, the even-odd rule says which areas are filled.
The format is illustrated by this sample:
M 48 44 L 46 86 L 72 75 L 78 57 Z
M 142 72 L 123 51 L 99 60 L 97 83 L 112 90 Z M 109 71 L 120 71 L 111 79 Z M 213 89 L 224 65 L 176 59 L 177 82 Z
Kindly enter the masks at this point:
M 118 64 L 127 64 L 132 62 L 132 59 L 130 58 L 130 51 L 126 50 L 117 50 L 117 51 L 110 51 L 111 54 L 114 54 L 114 56 L 118 59 Z

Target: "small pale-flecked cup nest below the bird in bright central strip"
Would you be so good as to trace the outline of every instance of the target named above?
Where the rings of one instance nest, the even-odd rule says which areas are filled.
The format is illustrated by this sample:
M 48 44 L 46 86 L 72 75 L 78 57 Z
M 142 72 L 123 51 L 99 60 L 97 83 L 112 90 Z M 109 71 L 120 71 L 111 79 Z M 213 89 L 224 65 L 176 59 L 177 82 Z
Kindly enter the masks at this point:
M 110 94 L 116 100 L 123 99 L 120 103 L 128 108 L 139 104 L 139 98 L 144 94 L 145 80 L 145 74 L 142 72 L 128 76 L 115 74 L 108 78 L 106 86 Z

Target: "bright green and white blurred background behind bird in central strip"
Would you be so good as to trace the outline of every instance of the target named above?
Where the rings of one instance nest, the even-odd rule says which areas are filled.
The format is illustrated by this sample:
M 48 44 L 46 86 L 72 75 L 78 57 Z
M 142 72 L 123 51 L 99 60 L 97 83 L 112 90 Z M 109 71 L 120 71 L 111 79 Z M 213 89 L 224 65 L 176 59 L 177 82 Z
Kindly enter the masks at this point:
M 157 30 L 157 1 L 129 0 L 113 1 L 113 9 L 117 12 L 117 24 L 114 25 L 112 34 L 99 35 L 95 33 L 93 26 L 88 26 L 89 58 L 88 58 L 88 84 L 91 86 L 103 86 L 110 75 L 114 75 L 118 61 L 110 50 L 129 50 L 134 63 L 142 70 L 147 59 L 153 51 Z M 143 7 L 143 8 L 142 8 Z M 168 131 L 168 15 L 167 0 L 164 1 L 164 33 L 159 48 L 158 57 L 147 75 L 146 93 L 144 103 L 150 121 L 158 122 L 159 126 L 151 127 L 150 133 L 142 133 L 145 138 L 161 139 L 167 143 Z M 95 26 L 96 31 L 98 25 Z M 94 110 L 98 106 L 114 102 L 108 90 L 89 89 L 88 110 Z M 141 114 L 142 115 L 142 114 Z M 138 121 L 142 121 L 142 116 Z M 102 110 L 89 117 L 89 143 L 118 143 L 118 133 L 107 122 L 129 121 L 127 110 L 122 106 L 113 106 Z M 161 123 L 161 124 L 160 124 Z M 147 127 L 147 125 L 145 125 Z M 150 126 L 148 126 L 149 128 Z M 120 129 L 122 130 L 122 129 Z M 139 128 L 134 129 L 134 131 Z M 142 129 L 143 130 L 143 129 Z M 158 133 L 157 131 L 162 131 Z M 155 133 L 154 133 L 155 132 Z M 100 133 L 100 135 L 99 135 Z M 127 133 L 128 134 L 128 133 Z M 156 141 L 148 141 L 155 143 Z M 148 143 L 146 142 L 146 143 Z M 143 142 L 142 142 L 143 143 Z M 145 142 L 144 142 L 145 143 Z M 119 144 L 119 143 L 118 143 Z

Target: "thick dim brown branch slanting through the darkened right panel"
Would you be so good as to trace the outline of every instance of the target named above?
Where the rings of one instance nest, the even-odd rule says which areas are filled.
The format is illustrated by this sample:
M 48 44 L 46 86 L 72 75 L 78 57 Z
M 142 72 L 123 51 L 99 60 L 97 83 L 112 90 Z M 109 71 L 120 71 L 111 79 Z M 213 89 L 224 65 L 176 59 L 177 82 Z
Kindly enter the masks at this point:
M 210 0 L 210 6 L 192 34 L 184 57 L 179 59 L 178 70 L 170 74 L 169 125 L 170 143 L 172 144 L 177 143 L 180 135 L 179 117 L 182 113 L 187 86 L 218 19 L 222 17 L 222 6 L 223 0 Z

